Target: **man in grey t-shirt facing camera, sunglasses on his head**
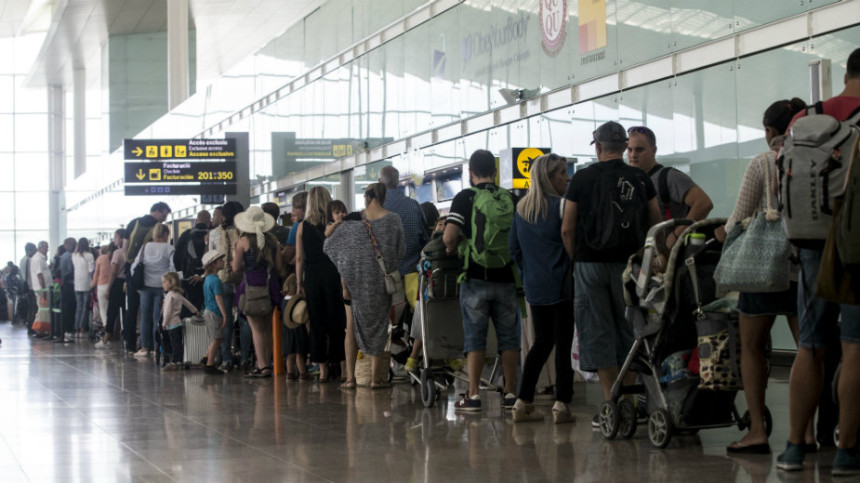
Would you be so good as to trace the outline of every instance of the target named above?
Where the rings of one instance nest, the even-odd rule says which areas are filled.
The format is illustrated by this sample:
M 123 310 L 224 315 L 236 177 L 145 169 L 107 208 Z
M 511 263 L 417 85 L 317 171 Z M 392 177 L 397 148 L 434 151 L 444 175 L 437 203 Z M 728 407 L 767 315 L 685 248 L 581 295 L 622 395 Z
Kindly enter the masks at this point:
M 685 173 L 657 164 L 657 138 L 654 131 L 645 126 L 635 126 L 628 129 L 627 133 L 627 161 L 631 166 L 648 173 L 657 190 L 663 219 L 689 218 L 698 221 L 707 218 L 714 208 L 707 193 Z M 666 244 L 672 246 L 684 228 L 677 227 L 675 233 L 667 237 Z

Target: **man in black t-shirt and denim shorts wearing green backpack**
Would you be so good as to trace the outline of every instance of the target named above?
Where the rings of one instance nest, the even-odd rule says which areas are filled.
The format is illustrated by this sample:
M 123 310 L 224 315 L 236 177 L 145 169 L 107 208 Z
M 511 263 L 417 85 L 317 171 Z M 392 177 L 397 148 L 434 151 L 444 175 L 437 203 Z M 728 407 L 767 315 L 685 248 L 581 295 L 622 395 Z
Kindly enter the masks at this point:
M 496 160 L 489 151 L 480 149 L 469 158 L 469 180 L 477 190 L 504 190 L 494 183 Z M 475 189 L 465 189 L 454 197 L 448 213 L 447 224 L 442 240 L 449 254 L 457 253 L 462 240 L 471 239 L 472 209 L 477 196 Z M 512 206 L 516 206 L 513 195 Z M 511 211 L 512 213 L 512 211 Z M 505 236 L 507 250 L 507 236 Z M 467 250 L 467 256 L 468 250 Z M 510 255 L 508 255 L 510 258 Z M 490 316 L 496 329 L 498 350 L 502 357 L 505 374 L 503 406 L 513 407 L 517 398 L 516 371 L 520 353 L 520 327 L 517 317 L 518 300 L 513 262 L 501 268 L 487 268 L 470 259 L 466 278 L 460 284 L 460 310 L 463 314 L 464 347 L 469 372 L 469 392 L 463 400 L 454 405 L 456 411 L 478 412 L 481 410 L 481 397 L 478 387 L 484 367 L 484 353 L 487 348 L 487 330 Z

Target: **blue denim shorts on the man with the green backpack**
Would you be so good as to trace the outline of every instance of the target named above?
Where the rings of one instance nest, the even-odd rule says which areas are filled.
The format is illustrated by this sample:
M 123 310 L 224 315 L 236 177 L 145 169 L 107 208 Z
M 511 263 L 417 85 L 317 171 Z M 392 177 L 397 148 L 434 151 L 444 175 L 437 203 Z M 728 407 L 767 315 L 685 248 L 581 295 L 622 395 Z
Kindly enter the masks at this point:
M 496 329 L 499 352 L 520 350 L 517 288 L 512 283 L 467 279 L 460 284 L 463 314 L 463 352 L 485 351 L 490 318 Z

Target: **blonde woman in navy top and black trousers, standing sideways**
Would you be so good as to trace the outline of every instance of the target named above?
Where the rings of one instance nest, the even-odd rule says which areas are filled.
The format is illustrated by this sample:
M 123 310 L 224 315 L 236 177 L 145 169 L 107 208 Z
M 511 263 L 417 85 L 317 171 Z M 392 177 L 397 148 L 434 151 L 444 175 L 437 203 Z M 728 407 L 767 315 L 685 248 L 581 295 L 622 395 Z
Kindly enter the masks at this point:
M 537 421 L 543 414 L 534 409 L 534 393 L 540 371 L 555 346 L 556 401 L 553 422 L 574 420 L 573 369 L 570 346 L 573 342 L 573 300 L 562 293 L 570 258 L 561 239 L 561 215 L 570 176 L 567 162 L 555 154 L 545 154 L 531 166 L 531 186 L 517 204 L 508 246 L 520 269 L 526 300 L 531 306 L 535 341 L 523 365 L 520 392 L 514 404 L 514 422 Z M 523 249 L 528 247 L 528 249 Z

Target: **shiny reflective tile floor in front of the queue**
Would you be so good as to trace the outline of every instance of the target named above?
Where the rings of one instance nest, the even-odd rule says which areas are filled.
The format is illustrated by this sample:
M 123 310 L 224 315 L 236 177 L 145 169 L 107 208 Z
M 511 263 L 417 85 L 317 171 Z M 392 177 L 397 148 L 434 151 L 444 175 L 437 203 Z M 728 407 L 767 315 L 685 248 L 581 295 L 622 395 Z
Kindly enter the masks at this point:
M 342 392 L 336 383 L 164 373 L 114 345 L 58 345 L 0 323 L 0 482 L 830 481 L 833 451 L 786 475 L 776 454 L 729 458 L 737 428 L 655 450 L 640 429 L 591 429 L 596 385 L 577 384 L 575 424 L 514 425 L 496 394 L 454 413 L 455 390 L 424 409 L 416 388 Z M 782 371 L 784 372 L 784 371 Z M 787 436 L 787 384 L 772 381 L 775 452 Z M 738 397 L 743 405 L 743 397 Z M 549 413 L 550 408 L 544 407 Z

